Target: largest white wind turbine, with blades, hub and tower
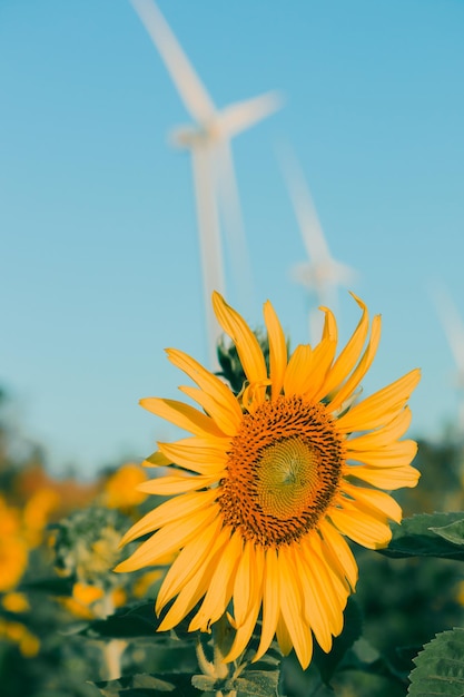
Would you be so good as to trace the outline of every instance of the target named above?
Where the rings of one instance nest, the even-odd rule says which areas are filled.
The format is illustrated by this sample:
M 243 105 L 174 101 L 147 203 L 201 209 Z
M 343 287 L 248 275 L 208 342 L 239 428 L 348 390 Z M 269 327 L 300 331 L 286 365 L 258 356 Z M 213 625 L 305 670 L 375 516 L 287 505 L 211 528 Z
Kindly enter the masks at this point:
M 213 313 L 211 293 L 225 293 L 220 220 L 228 235 L 234 277 L 248 300 L 251 286 L 230 140 L 276 111 L 280 99 L 276 92 L 267 92 L 218 110 L 155 2 L 130 1 L 194 119 L 192 125 L 176 129 L 174 141 L 191 155 L 210 363 L 217 366 L 220 328 Z

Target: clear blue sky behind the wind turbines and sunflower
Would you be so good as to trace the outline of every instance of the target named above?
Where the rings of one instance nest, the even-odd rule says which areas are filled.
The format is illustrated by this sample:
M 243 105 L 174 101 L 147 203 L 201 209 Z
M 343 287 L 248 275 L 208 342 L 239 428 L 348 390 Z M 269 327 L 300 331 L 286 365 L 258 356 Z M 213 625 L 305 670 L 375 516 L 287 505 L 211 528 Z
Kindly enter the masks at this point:
M 456 413 L 455 365 L 430 287 L 464 314 L 464 2 L 159 0 L 218 107 L 269 89 L 285 106 L 234 140 L 254 274 L 293 344 L 305 248 L 277 150 L 297 154 L 333 255 L 383 315 L 369 393 L 412 367 L 414 435 Z M 55 472 L 142 459 L 177 396 L 164 348 L 208 346 L 189 117 L 126 0 L 0 0 L 0 385 Z M 342 340 L 358 313 L 339 293 Z

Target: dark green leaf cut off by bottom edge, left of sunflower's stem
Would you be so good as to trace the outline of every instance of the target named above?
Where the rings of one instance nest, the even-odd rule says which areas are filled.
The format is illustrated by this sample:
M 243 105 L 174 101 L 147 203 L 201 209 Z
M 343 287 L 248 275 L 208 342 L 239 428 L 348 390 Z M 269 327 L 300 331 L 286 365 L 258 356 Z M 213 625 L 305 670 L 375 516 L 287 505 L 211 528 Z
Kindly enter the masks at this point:
M 168 675 L 131 675 L 118 680 L 90 683 L 105 697 L 199 697 L 191 685 L 191 675 L 179 673 Z

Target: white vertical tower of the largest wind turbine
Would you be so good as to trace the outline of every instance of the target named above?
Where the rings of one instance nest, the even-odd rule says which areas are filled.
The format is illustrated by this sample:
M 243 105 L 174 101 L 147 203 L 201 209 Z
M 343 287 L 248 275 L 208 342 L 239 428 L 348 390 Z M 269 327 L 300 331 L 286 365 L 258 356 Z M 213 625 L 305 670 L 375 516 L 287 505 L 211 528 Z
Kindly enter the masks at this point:
M 191 149 L 209 362 L 216 370 L 221 330 L 213 312 L 211 295 L 213 291 L 225 294 L 225 282 L 211 157 L 211 148 L 206 144 Z

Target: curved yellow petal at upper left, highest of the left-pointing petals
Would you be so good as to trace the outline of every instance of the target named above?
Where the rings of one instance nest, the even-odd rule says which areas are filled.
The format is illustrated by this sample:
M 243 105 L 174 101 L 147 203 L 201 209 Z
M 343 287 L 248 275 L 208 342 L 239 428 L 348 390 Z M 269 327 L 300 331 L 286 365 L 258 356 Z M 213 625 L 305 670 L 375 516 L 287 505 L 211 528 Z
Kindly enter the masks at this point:
M 219 405 L 227 420 L 237 430 L 241 423 L 241 409 L 230 389 L 217 375 L 207 371 L 189 355 L 176 348 L 168 348 L 169 361 L 184 371 L 197 385 Z M 220 424 L 219 424 L 220 425 Z

